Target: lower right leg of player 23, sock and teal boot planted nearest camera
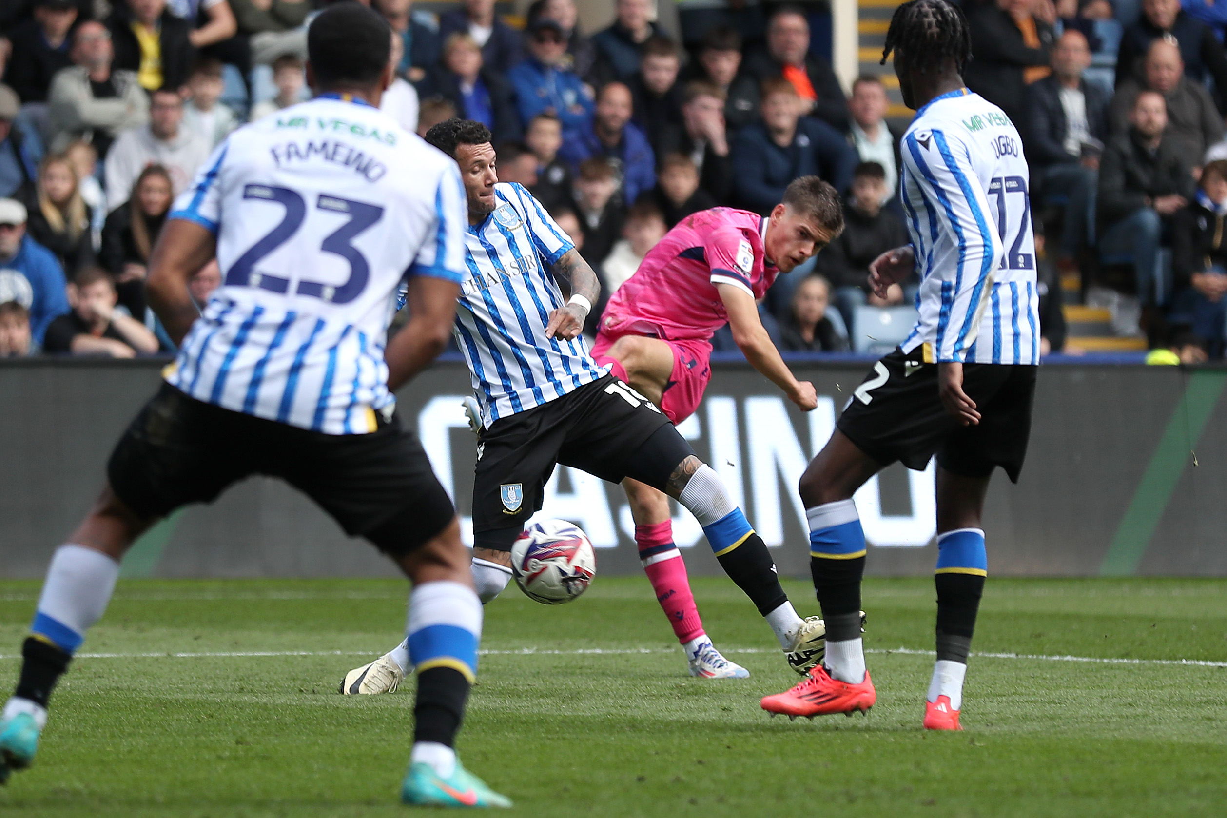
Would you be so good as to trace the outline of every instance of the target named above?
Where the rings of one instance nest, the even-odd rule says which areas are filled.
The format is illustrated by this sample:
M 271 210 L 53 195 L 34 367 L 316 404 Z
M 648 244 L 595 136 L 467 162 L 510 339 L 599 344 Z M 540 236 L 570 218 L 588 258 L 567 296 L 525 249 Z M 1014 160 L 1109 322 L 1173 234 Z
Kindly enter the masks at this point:
M 437 807 L 509 807 L 460 764 L 454 749 L 477 672 L 481 600 L 453 518 L 440 535 L 401 558 L 413 583 L 405 641 L 417 675 L 413 751 L 401 800 Z

